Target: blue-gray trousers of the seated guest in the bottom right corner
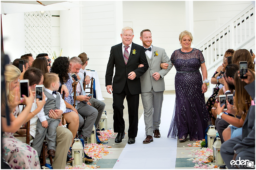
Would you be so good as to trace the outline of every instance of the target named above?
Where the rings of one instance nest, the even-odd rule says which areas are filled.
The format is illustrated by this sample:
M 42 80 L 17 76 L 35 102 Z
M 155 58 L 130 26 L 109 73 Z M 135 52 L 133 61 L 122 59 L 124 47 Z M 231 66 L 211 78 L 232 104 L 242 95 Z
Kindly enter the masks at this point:
M 237 136 L 237 137 L 233 137 L 231 139 L 229 139 L 228 141 L 225 141 L 220 148 L 220 154 L 222 159 L 224 160 L 226 166 L 228 167 L 228 169 L 237 169 L 237 167 L 235 167 L 234 165 L 230 165 L 230 161 L 233 160 L 233 156 L 234 156 L 234 149 L 233 147 L 238 143 L 242 141 L 242 135 Z M 236 156 L 236 160 L 249 160 L 249 161 L 253 161 L 255 162 L 255 146 L 254 147 L 250 147 L 250 148 L 245 148 L 242 151 L 240 151 L 237 156 Z M 244 167 L 241 166 L 239 167 L 240 169 L 252 169 L 250 167 Z

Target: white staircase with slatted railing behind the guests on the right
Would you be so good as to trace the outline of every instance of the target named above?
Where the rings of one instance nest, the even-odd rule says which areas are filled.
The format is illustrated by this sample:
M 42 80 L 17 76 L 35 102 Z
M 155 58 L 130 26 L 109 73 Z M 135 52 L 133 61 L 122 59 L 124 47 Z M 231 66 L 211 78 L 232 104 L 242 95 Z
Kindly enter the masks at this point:
M 227 49 L 251 48 L 255 52 L 255 3 L 249 5 L 226 24 L 194 46 L 202 51 L 208 72 L 208 79 L 222 64 Z M 248 49 L 247 49 L 248 50 Z M 249 49 L 250 50 L 250 49 Z M 205 97 L 212 95 L 210 84 Z

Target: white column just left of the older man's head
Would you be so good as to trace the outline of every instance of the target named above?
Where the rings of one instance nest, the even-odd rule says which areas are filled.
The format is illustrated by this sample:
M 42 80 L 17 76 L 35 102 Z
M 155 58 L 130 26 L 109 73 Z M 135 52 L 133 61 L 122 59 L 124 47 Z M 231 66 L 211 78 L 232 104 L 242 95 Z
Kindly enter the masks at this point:
M 115 44 L 119 44 L 123 28 L 123 1 L 114 1 Z

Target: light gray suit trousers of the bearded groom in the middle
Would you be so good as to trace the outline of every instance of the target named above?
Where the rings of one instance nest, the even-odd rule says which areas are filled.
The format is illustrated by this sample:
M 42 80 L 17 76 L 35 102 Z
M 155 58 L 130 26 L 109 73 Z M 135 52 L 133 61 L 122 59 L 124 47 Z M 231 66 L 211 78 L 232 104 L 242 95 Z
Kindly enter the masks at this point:
M 141 93 L 141 100 L 144 108 L 144 122 L 146 135 L 153 136 L 153 130 L 159 129 L 161 122 L 162 103 L 164 100 L 164 91 Z

